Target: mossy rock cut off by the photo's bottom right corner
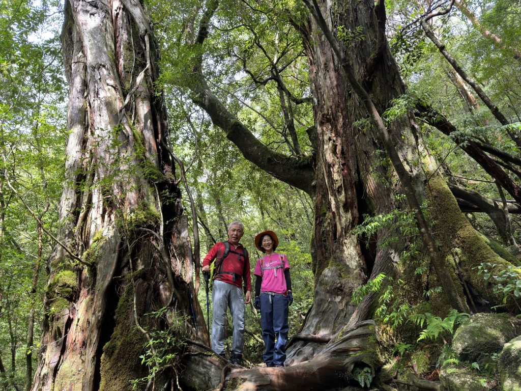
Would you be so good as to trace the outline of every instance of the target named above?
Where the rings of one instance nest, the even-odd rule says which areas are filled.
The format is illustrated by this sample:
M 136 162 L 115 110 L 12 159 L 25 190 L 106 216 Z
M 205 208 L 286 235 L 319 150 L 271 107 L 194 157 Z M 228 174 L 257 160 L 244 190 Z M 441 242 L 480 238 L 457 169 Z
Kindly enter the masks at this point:
M 503 391 L 521 391 L 521 336 L 511 339 L 503 346 L 498 370 Z

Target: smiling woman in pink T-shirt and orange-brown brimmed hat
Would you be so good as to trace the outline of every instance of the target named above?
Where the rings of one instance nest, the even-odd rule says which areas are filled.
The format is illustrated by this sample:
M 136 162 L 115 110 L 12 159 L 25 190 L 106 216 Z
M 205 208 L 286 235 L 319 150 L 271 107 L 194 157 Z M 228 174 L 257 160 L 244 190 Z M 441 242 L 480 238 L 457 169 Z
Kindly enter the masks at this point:
M 255 237 L 255 246 L 266 253 L 255 266 L 254 306 L 261 310 L 266 366 L 283 366 L 288 342 L 288 306 L 293 302 L 290 265 L 286 254 L 276 253 L 279 238 L 274 231 Z

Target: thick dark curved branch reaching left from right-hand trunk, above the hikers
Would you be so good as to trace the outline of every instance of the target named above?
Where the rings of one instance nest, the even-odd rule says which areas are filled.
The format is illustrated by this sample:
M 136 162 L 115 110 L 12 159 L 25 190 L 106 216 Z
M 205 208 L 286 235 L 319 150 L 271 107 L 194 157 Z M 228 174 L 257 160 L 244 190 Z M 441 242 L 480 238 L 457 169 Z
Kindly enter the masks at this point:
M 297 189 L 313 194 L 314 169 L 311 156 L 296 158 L 276 153 L 264 145 L 222 104 L 210 90 L 204 76 L 197 71 L 190 86 L 192 100 L 212 118 L 214 125 L 225 131 L 243 156 L 268 174 Z

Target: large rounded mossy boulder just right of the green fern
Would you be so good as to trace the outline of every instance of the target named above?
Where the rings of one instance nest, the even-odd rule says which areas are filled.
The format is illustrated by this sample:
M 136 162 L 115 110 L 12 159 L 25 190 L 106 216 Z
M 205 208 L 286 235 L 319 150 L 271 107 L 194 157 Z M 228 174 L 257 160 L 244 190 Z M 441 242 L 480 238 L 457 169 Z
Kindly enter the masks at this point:
M 478 313 L 457 329 L 452 349 L 460 361 L 484 362 L 521 334 L 521 321 L 507 314 Z

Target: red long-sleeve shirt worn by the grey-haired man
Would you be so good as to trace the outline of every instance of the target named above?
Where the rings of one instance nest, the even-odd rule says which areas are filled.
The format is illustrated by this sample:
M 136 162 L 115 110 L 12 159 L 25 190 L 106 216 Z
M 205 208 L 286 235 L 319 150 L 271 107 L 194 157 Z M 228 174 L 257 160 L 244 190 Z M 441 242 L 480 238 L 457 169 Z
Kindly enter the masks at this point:
M 243 260 L 244 253 L 243 247 L 241 243 L 235 247 L 230 243 L 230 252 L 222 261 L 222 266 L 220 267 L 220 271 L 222 272 L 230 272 L 235 273 L 242 278 L 235 278 L 235 282 L 233 282 L 233 276 L 231 274 L 217 274 L 214 279 L 218 279 L 219 281 L 224 281 L 225 283 L 232 284 L 238 287 L 242 287 L 242 280 L 244 279 L 244 286 L 246 290 L 252 290 L 252 277 L 250 272 L 250 255 L 246 252 L 246 260 Z M 209 265 L 214 262 L 219 255 L 219 258 L 225 252 L 225 243 L 218 242 L 215 243 L 214 247 L 206 254 L 203 260 L 203 267 Z M 218 271 L 216 270 L 216 273 Z

